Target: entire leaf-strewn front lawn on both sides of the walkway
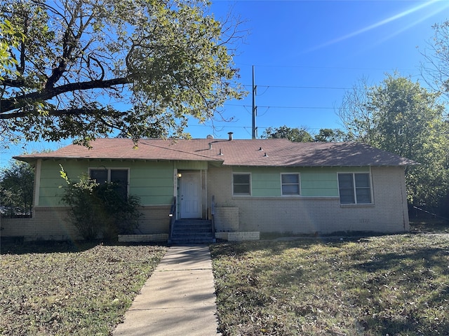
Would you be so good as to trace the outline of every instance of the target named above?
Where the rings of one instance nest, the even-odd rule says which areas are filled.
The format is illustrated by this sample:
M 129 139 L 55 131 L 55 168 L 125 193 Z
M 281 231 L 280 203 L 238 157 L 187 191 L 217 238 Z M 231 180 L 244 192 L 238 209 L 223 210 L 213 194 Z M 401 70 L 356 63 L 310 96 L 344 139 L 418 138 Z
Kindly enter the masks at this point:
M 447 224 L 214 244 L 224 336 L 449 335 Z M 424 235 L 431 232 L 435 235 Z M 2 244 L 0 335 L 112 335 L 165 246 Z

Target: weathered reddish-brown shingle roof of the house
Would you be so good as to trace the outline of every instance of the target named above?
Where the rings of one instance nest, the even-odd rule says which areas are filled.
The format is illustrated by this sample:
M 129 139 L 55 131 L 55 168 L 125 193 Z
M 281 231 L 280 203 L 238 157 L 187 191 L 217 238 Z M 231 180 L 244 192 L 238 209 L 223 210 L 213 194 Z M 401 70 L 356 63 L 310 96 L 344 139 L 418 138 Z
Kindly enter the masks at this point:
M 69 145 L 50 153 L 20 155 L 18 160 L 110 159 L 199 160 L 220 165 L 262 167 L 406 166 L 416 162 L 354 142 L 293 143 L 286 139 L 97 139 L 92 148 Z M 220 155 L 221 153 L 221 155 Z

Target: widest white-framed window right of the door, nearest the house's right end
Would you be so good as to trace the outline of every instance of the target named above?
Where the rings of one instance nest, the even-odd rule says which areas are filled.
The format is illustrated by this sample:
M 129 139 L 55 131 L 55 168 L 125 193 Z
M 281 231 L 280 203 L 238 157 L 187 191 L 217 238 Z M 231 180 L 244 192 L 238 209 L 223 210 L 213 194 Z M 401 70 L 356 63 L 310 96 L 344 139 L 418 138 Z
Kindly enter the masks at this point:
M 371 203 L 370 174 L 338 174 L 338 189 L 341 204 Z

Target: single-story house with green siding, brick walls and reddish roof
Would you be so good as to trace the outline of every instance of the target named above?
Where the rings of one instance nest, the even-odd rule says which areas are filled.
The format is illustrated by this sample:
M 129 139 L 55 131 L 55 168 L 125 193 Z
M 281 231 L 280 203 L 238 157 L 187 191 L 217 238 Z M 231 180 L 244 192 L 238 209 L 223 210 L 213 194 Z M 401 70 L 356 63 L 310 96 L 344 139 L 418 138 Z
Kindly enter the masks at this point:
M 166 240 L 176 219 L 211 218 L 215 237 L 255 239 L 259 232 L 323 235 L 409 230 L 404 169 L 415 162 L 356 143 L 286 139 L 98 139 L 51 153 L 20 155 L 36 167 L 34 216 L 1 223 L 2 235 L 76 239 L 60 203 L 65 181 L 89 172 L 119 181 L 140 197 L 139 234 Z M 214 202 L 213 202 L 214 200 Z

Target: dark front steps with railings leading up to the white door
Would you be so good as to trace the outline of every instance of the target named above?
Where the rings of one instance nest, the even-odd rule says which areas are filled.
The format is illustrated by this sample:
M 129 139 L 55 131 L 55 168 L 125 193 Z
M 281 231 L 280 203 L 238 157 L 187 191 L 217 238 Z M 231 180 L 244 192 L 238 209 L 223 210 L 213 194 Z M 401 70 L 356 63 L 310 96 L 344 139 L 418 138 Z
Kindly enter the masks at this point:
M 172 228 L 170 245 L 210 244 L 214 241 L 212 221 L 204 219 L 181 219 Z

